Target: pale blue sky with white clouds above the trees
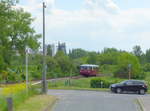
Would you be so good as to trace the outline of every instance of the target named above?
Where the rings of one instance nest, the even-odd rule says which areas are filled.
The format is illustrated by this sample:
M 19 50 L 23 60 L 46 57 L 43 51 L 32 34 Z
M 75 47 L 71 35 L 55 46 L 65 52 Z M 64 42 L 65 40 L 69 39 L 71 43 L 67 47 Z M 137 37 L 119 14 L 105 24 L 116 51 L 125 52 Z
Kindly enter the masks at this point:
M 150 0 L 45 0 L 46 43 L 65 42 L 67 49 L 132 51 L 150 48 Z M 42 0 L 20 0 L 42 33 Z M 42 40 L 40 40 L 42 42 Z

